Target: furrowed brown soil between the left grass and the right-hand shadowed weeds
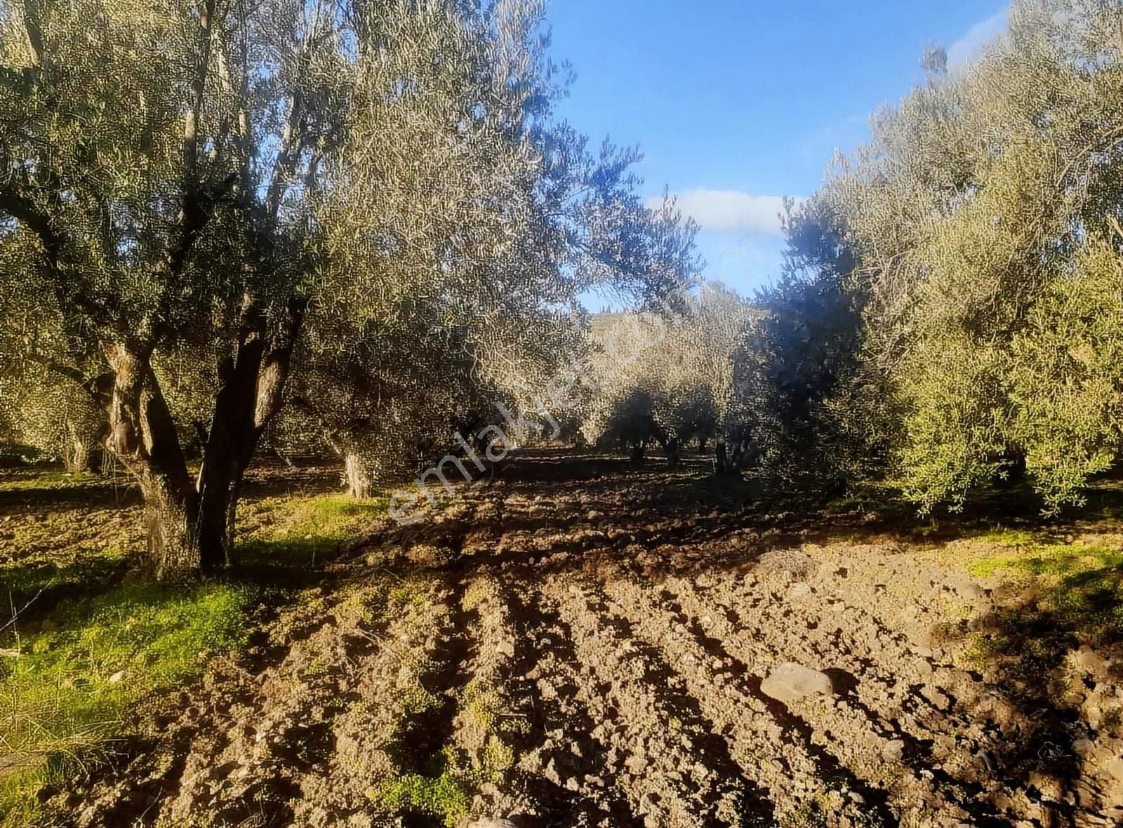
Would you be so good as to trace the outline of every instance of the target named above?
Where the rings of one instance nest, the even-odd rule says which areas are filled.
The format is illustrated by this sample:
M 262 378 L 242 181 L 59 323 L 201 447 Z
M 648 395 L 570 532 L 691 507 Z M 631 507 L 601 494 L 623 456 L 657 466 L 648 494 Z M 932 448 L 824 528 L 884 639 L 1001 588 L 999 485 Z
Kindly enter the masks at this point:
M 84 825 L 952 828 L 1072 813 L 995 765 L 1015 716 L 930 640 L 974 611 L 948 602 L 935 564 L 754 535 L 761 546 L 723 569 L 707 562 L 732 561 L 748 534 L 626 515 L 619 491 L 496 487 L 454 506 L 393 535 L 399 574 L 378 550 L 350 587 L 287 611 L 259 670 L 217 665 L 161 758 L 119 785 L 144 798 L 126 808 L 118 790 L 121 807 Z M 785 663 L 830 692 L 780 699 L 767 682 Z

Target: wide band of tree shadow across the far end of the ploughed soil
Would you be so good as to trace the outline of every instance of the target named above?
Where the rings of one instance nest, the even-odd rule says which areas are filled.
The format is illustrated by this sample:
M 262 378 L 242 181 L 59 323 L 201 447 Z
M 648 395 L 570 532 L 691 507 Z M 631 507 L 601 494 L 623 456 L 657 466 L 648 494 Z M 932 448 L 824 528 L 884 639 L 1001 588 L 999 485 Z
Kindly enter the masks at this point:
M 1095 500 L 1084 514 L 1123 514 L 1121 489 Z M 458 510 L 458 503 L 475 510 Z M 501 565 L 541 573 L 642 549 L 659 552 L 647 574 L 688 576 L 739 570 L 765 552 L 804 543 L 940 543 L 986 535 L 996 525 L 1042 527 L 1040 500 L 1028 486 L 987 490 L 962 513 L 933 517 L 917 515 L 885 486 L 842 499 L 769 494 L 759 480 L 714 475 L 702 456 L 637 467 L 605 452 L 540 449 L 512 456 L 494 478 L 459 487 L 417 524 L 387 517 L 350 551 L 430 544 L 445 552 L 440 565 L 462 571 Z

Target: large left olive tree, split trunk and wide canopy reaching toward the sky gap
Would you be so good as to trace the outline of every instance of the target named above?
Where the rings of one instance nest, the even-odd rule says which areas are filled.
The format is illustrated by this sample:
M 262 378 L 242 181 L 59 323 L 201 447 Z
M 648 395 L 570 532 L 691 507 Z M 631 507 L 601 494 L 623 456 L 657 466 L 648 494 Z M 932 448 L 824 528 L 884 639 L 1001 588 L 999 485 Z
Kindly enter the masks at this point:
M 0 12 L 0 246 L 19 260 L 0 302 L 26 309 L 4 319 L 6 348 L 19 331 L 6 365 L 106 412 L 161 577 L 227 562 L 243 476 L 294 375 L 392 377 L 389 411 L 408 420 L 417 401 L 392 395 L 412 380 L 384 355 L 401 365 L 426 340 L 455 355 L 445 374 L 477 366 L 473 330 L 544 319 L 606 273 L 657 289 L 690 256 L 670 208 L 628 191 L 629 154 L 593 164 L 539 122 L 554 82 L 533 2 Z M 557 240 L 592 266 L 559 264 Z M 424 369 L 405 374 L 436 387 Z

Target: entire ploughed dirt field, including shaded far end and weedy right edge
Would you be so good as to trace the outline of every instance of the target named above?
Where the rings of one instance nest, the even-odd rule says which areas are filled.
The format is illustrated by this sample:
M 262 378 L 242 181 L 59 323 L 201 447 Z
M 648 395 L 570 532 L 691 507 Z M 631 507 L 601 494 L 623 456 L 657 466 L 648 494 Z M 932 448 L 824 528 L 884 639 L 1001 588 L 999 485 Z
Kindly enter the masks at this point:
M 794 515 L 701 461 L 526 456 L 345 544 L 53 792 L 56 819 L 1123 824 L 1117 521 L 877 506 Z

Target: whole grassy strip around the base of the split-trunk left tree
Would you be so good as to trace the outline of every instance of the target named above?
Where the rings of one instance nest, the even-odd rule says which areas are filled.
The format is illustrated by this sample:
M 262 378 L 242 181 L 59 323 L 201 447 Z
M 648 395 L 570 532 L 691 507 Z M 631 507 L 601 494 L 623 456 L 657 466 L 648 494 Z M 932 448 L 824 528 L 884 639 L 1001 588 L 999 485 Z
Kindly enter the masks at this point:
M 99 762 L 129 711 L 246 644 L 252 617 L 314 578 L 378 502 L 327 480 L 250 485 L 230 577 L 163 588 L 129 576 L 140 509 L 127 481 L 0 476 L 0 825 L 35 821 L 35 794 Z

